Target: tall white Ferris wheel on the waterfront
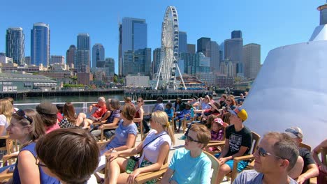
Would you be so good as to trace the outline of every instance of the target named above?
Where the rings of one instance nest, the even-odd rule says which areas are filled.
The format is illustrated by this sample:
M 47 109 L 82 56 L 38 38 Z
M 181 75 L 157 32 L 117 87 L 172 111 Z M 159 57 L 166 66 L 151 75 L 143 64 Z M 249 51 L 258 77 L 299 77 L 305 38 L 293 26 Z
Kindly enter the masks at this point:
M 176 80 L 176 72 L 179 73 L 184 89 L 187 89 L 178 67 L 178 43 L 177 10 L 175 6 L 168 6 L 162 22 L 160 65 L 155 89 L 158 89 L 159 81 L 163 89 L 178 89 L 180 82 Z

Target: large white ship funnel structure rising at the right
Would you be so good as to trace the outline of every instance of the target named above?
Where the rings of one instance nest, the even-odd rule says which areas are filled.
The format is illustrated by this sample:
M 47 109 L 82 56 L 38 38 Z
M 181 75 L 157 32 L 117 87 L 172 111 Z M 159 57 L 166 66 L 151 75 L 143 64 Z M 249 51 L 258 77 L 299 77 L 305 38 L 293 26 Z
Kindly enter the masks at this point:
M 252 84 L 245 125 L 260 135 L 298 126 L 312 147 L 327 138 L 327 4 L 317 9 L 310 40 L 271 50 Z

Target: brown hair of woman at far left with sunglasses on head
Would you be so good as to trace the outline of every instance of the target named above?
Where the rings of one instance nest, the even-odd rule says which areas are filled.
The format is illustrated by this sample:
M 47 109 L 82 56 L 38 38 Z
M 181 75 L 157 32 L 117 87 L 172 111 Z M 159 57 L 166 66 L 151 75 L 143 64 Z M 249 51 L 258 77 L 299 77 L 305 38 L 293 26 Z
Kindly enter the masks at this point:
M 20 123 L 22 126 L 30 126 L 31 132 L 29 132 L 28 140 L 25 144 L 23 144 L 20 148 L 24 148 L 24 146 L 29 145 L 31 142 L 36 141 L 43 135 L 45 135 L 45 130 L 42 123 L 42 118 L 38 114 L 38 112 L 34 111 L 33 109 L 24 109 L 23 110 L 25 115 L 29 118 L 31 118 L 32 123 L 29 122 L 27 118 L 24 118 L 23 116 L 18 115 L 17 113 L 13 114 L 12 119 L 14 118 L 17 123 Z

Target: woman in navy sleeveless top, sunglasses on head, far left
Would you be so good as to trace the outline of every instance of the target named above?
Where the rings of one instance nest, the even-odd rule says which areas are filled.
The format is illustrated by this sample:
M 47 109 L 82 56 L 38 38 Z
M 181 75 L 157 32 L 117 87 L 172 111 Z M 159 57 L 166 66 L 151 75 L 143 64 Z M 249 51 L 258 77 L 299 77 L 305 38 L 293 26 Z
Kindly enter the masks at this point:
M 13 114 L 7 131 L 10 139 L 20 141 L 13 178 L 8 183 L 59 183 L 36 165 L 36 141 L 45 135 L 41 116 L 32 109 L 19 109 Z

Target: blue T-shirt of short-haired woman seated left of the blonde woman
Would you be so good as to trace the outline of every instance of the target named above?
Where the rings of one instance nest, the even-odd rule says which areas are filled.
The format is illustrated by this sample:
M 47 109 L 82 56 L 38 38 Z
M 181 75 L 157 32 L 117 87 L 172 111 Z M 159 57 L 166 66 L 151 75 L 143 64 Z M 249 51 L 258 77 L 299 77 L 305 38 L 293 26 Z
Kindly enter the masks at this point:
M 138 128 L 135 123 L 131 123 L 127 126 L 123 125 L 123 122 L 119 123 L 118 128 L 115 130 L 115 137 L 107 144 L 106 148 L 109 150 L 110 148 L 117 148 L 120 146 L 126 145 L 127 137 L 129 134 L 138 135 Z

